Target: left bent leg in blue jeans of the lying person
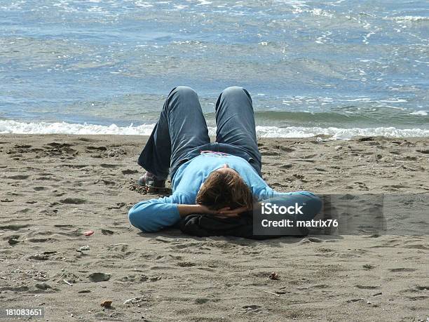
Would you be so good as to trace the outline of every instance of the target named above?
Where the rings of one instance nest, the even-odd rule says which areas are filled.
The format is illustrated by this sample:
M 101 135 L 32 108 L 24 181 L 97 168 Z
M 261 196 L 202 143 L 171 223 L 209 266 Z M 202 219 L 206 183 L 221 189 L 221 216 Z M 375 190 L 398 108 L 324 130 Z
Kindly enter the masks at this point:
M 137 163 L 160 180 L 171 165 L 191 149 L 210 143 L 207 124 L 197 93 L 189 87 L 173 88 L 161 116 Z

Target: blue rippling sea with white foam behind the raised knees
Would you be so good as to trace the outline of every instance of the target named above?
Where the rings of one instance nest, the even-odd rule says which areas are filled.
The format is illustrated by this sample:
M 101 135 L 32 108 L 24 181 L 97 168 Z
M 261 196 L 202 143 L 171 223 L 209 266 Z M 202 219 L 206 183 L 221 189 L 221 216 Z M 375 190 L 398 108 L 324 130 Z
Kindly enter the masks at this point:
M 210 133 L 228 86 L 261 137 L 429 136 L 425 0 L 1 0 L 0 133 L 147 135 L 175 86 Z

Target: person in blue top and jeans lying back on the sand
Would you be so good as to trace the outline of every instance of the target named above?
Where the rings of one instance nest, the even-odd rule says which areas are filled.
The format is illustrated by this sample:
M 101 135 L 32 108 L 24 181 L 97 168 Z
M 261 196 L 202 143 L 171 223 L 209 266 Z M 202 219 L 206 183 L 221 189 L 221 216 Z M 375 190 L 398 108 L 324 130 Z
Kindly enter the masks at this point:
M 130 223 L 144 232 L 171 227 L 191 214 L 236 217 L 254 202 L 287 196 L 304 203 L 309 217 L 321 208 L 311 192 L 275 192 L 261 178 L 252 98 L 245 88 L 226 88 L 216 102 L 216 142 L 210 142 L 197 93 L 173 88 L 139 156 L 147 173 L 139 185 L 163 188 L 170 174 L 172 195 L 133 206 Z

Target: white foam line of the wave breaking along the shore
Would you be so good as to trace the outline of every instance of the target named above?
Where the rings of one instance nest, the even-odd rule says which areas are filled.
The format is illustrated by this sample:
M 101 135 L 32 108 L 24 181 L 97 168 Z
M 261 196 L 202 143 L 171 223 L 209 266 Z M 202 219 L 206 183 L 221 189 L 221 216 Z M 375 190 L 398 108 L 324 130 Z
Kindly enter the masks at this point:
M 47 123 L 47 122 L 19 122 L 0 120 L 0 133 L 15 134 L 114 134 L 114 135 L 150 135 L 155 124 L 141 126 L 100 126 L 96 124 L 77 123 Z M 348 140 L 353 136 L 383 135 L 386 137 L 429 137 L 429 130 L 421 128 L 318 128 L 290 126 L 278 128 L 277 126 L 257 126 L 258 137 L 312 137 L 315 135 L 330 135 L 332 140 Z M 209 127 L 209 134 L 215 135 L 216 128 Z

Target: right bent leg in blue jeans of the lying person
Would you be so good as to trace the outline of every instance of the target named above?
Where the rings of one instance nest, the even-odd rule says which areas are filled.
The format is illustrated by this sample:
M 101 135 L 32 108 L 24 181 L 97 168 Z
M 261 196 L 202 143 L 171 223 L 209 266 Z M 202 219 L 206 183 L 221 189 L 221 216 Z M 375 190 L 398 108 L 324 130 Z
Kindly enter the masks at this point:
M 259 170 L 261 154 L 258 149 L 252 98 L 242 87 L 226 88 L 216 102 L 216 142 L 245 149 Z

